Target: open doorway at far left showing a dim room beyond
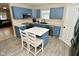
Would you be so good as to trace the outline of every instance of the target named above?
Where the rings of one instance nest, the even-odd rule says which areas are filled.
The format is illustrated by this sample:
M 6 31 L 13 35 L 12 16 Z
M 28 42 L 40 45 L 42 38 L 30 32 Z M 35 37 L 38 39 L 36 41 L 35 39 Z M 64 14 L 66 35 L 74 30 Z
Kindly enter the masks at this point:
M 0 3 L 0 41 L 13 37 L 8 3 Z

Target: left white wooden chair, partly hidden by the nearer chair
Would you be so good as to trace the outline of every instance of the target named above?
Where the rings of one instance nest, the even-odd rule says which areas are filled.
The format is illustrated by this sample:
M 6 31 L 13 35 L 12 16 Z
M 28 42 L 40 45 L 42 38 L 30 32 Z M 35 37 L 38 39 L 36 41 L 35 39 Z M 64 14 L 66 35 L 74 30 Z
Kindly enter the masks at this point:
M 27 49 L 27 51 L 29 53 L 29 43 L 28 43 L 27 33 L 25 33 L 21 29 L 19 29 L 19 31 L 20 31 L 20 35 L 21 35 L 22 49 L 23 48 Z

